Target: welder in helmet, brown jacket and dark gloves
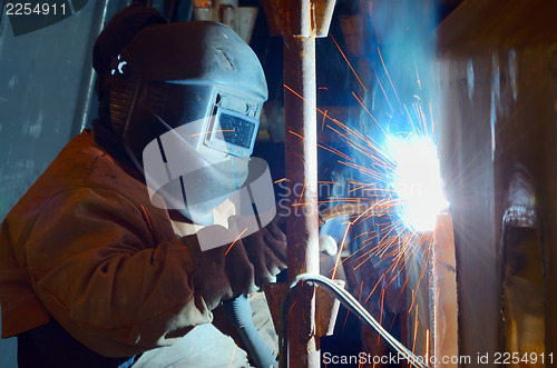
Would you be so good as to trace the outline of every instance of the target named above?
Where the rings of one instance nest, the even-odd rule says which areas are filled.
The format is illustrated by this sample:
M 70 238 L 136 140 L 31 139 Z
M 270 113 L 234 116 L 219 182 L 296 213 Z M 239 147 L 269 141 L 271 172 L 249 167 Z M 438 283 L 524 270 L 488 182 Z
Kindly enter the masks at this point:
M 250 47 L 226 26 L 167 24 L 134 3 L 97 39 L 94 68 L 99 119 L 0 232 L 2 337 L 17 336 L 20 367 L 140 366 L 285 268 L 273 221 L 223 245 L 197 236 L 231 223 L 252 180 L 267 89 Z M 217 329 L 198 331 L 208 356 L 188 366 L 246 366 Z

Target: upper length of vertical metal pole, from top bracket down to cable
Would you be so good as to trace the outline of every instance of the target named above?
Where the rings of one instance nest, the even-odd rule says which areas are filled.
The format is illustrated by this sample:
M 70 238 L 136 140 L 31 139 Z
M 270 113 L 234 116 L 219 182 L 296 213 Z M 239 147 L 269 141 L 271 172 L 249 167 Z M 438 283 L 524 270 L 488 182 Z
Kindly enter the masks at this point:
M 315 39 L 286 38 L 284 44 L 289 278 L 319 273 Z M 292 91 L 292 92 L 291 92 Z M 301 197 L 297 187 L 303 187 Z M 313 257 L 315 256 L 315 257 Z M 292 261 L 291 261 L 292 260 Z

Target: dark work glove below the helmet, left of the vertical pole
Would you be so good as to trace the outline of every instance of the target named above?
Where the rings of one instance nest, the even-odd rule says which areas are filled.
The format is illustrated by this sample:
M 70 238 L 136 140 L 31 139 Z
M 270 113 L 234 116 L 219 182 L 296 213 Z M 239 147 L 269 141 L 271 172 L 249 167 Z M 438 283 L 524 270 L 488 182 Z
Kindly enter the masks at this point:
M 198 246 L 192 248 L 197 269 L 194 285 L 209 309 L 261 289 L 286 268 L 286 237 L 273 221 L 232 247 L 204 251 Z

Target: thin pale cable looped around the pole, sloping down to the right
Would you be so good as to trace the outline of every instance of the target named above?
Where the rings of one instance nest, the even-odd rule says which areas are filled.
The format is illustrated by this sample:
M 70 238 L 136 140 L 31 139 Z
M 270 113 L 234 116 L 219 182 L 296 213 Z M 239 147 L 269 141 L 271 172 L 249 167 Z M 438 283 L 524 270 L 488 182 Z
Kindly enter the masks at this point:
M 407 361 L 414 367 L 418 368 L 429 368 L 423 365 L 413 352 L 407 349 L 404 345 L 402 345 L 399 340 L 392 337 L 369 312 L 363 308 L 358 300 L 350 295 L 346 290 L 339 287 L 333 280 L 313 273 L 301 273 L 297 275 L 294 280 L 290 284 L 289 288 L 284 291 L 283 299 L 281 301 L 281 314 L 278 320 L 278 344 L 280 344 L 280 352 L 278 352 L 278 361 L 281 368 L 287 367 L 287 355 L 289 355 L 289 322 L 287 322 L 287 312 L 290 311 L 292 305 L 294 304 L 295 294 L 292 292 L 294 287 L 300 282 L 305 282 L 306 286 L 312 286 L 312 284 L 317 284 L 323 287 L 329 294 L 333 295 L 336 299 L 339 299 L 344 307 L 346 307 L 350 311 L 355 314 L 362 320 L 368 322 L 383 339 L 389 342 L 391 347 L 393 347 L 398 352 L 404 355 Z

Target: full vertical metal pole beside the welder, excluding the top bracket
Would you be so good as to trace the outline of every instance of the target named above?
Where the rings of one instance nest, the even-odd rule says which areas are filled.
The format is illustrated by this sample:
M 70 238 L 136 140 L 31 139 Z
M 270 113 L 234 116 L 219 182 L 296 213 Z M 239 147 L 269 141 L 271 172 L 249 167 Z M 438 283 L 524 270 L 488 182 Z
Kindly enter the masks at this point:
M 284 82 L 286 178 L 293 205 L 286 221 L 289 279 L 292 280 L 304 272 L 319 275 L 314 37 L 284 37 Z M 314 287 L 305 285 L 290 312 L 289 366 L 320 367 L 317 339 Z

